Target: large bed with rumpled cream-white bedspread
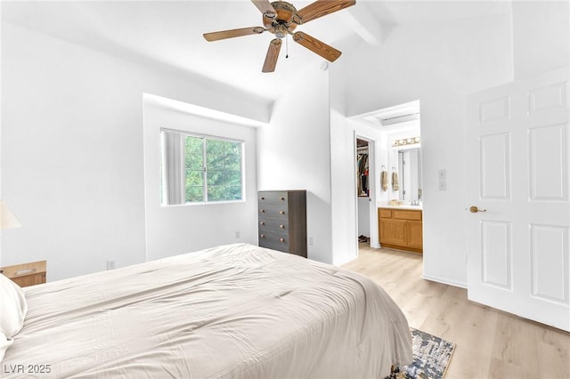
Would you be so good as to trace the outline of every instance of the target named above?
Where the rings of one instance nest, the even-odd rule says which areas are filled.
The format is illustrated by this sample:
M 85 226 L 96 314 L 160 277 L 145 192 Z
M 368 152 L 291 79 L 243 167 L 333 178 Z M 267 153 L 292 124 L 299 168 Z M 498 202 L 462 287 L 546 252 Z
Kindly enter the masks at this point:
M 21 292 L 3 378 L 383 378 L 412 359 L 371 279 L 248 244 Z

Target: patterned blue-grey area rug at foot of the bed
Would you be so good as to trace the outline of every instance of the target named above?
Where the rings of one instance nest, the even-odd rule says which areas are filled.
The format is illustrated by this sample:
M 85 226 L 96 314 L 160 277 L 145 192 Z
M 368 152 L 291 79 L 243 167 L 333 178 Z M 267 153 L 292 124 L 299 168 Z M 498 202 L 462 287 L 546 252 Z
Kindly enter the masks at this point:
M 442 379 L 452 359 L 455 343 L 410 328 L 413 362 L 396 367 L 387 379 Z

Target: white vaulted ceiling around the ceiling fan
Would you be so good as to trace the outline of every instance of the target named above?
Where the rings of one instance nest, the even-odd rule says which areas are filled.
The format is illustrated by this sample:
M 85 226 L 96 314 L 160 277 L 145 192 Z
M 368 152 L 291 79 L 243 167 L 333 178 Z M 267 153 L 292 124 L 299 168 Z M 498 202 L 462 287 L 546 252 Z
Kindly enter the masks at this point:
M 293 2 L 297 10 L 311 3 Z M 510 4 L 506 1 L 357 0 L 354 6 L 297 30 L 350 54 L 355 45 L 369 44 L 374 49 L 389 38 L 392 28 L 409 23 L 428 24 L 508 12 Z M 288 38 L 281 47 L 275 72 L 262 73 L 272 34 L 216 42 L 203 38 L 205 32 L 261 26 L 262 15 L 249 0 L 3 2 L 2 20 L 181 75 L 212 78 L 268 100 L 286 91 L 307 65 L 323 61 Z

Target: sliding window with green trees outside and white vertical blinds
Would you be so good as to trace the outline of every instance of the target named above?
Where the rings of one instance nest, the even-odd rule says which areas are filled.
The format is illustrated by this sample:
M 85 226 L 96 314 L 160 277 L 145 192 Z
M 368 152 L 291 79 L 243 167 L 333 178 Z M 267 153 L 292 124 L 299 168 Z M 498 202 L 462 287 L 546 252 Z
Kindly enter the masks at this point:
M 163 129 L 161 204 L 243 199 L 243 141 Z

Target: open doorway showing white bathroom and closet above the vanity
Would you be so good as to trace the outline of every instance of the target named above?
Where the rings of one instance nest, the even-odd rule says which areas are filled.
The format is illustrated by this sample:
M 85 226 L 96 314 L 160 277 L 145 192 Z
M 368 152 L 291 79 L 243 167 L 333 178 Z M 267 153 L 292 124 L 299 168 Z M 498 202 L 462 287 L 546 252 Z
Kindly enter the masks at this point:
M 358 246 L 359 237 L 370 233 L 370 246 L 379 248 L 379 207 L 413 206 L 411 210 L 422 211 L 419 100 L 377 109 L 350 118 L 355 122 L 354 207 L 356 220 L 354 240 Z M 358 170 L 358 148 L 362 148 L 360 151 L 362 153 L 366 142 L 368 142 L 369 149 L 368 181 L 371 183 L 368 197 L 366 197 L 366 191 L 362 191 L 358 185 L 361 179 Z M 412 149 L 415 150 L 415 155 L 407 151 Z M 401 166 L 398 159 L 399 150 L 403 150 L 403 155 L 407 157 L 406 162 L 409 165 L 406 171 L 398 170 Z M 382 178 L 381 183 L 380 178 Z M 404 186 L 397 184 L 398 180 L 403 180 Z M 409 186 L 411 186 L 410 189 L 408 189 Z M 403 190 L 406 190 L 407 196 L 400 199 Z

